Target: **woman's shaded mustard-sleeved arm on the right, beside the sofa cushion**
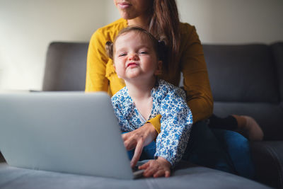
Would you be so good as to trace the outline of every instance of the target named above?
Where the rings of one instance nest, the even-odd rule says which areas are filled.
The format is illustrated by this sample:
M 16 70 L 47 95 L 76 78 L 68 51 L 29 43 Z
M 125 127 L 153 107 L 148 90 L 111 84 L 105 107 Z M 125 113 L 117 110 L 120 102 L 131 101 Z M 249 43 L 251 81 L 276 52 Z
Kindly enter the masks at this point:
M 187 105 L 192 110 L 194 122 L 204 120 L 212 115 L 213 98 L 209 85 L 207 64 L 195 27 L 181 24 L 180 67 L 184 77 L 184 89 Z

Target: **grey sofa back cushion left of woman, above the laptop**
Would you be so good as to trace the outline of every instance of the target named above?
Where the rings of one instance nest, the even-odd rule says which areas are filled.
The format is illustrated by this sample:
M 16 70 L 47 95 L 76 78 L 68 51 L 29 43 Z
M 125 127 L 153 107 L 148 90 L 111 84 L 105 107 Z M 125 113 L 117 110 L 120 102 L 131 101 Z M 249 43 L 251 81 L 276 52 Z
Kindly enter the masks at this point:
M 84 91 L 86 42 L 52 42 L 48 47 L 42 91 Z

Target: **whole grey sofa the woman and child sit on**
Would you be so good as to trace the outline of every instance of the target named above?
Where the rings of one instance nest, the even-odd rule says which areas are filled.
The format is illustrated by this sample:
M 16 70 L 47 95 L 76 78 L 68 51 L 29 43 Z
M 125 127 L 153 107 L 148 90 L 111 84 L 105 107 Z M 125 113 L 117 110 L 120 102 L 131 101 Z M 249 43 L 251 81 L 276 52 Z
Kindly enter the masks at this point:
M 87 48 L 86 42 L 52 42 L 42 90 L 83 91 Z M 134 181 L 33 171 L 2 163 L 0 188 L 283 188 L 283 42 L 204 45 L 204 56 L 214 113 L 251 115 L 265 132 L 264 141 L 250 142 L 257 182 L 187 163 L 175 168 L 171 178 Z

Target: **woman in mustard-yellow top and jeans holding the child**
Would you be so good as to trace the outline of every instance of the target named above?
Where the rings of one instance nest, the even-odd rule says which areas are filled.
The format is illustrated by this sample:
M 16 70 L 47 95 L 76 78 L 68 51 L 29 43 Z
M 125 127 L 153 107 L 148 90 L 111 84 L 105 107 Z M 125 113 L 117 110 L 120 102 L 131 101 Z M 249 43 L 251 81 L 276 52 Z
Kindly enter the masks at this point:
M 246 139 L 240 134 L 226 130 L 213 133 L 202 121 L 212 115 L 213 99 L 202 45 L 195 27 L 187 23 L 180 23 L 177 6 L 172 0 L 114 0 L 114 2 L 122 18 L 98 29 L 91 38 L 88 47 L 86 91 L 108 91 L 112 96 L 123 88 L 125 82 L 115 73 L 112 59 L 106 55 L 105 43 L 113 41 L 117 33 L 128 25 L 138 25 L 149 30 L 154 37 L 164 41 L 168 47 L 168 62 L 163 62 L 161 79 L 178 86 L 180 71 L 183 73 L 187 105 L 192 110 L 192 118 L 195 123 L 190 137 L 192 142 L 187 148 L 187 159 L 195 164 L 245 175 L 250 160 L 248 159 L 248 163 L 244 166 L 236 166 L 234 170 L 235 162 L 231 162 L 231 159 L 234 160 L 233 157 L 230 159 L 221 149 L 219 142 L 214 139 L 214 134 L 226 142 L 224 147 L 228 147 L 229 154 L 231 154 L 229 150 L 233 149 L 233 144 L 229 143 L 231 140 L 227 136 L 239 141 L 248 151 Z M 156 116 L 139 129 L 122 134 L 127 150 L 134 149 L 132 165 L 139 160 L 142 148 L 156 139 L 160 132 L 160 117 Z M 235 148 L 233 151 L 238 147 Z M 154 170 L 158 168 L 158 165 L 151 165 L 148 168 Z M 253 172 L 248 171 L 250 174 Z

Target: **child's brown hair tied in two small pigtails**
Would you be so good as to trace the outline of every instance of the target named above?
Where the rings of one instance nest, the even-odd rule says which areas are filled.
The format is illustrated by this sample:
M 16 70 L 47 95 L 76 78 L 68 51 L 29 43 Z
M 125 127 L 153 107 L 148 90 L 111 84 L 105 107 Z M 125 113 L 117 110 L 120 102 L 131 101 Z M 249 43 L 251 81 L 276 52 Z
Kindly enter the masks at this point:
M 129 26 L 127 28 L 124 28 L 120 30 L 116 38 L 114 39 L 114 42 L 106 42 L 105 44 L 105 49 L 107 52 L 108 57 L 110 59 L 114 60 L 114 52 L 115 52 L 115 42 L 117 38 L 119 38 L 121 35 L 125 35 L 126 33 L 129 32 L 136 32 L 136 33 L 142 33 L 145 34 L 149 40 L 151 41 L 154 51 L 156 52 L 156 56 L 158 60 L 161 60 L 162 62 L 166 61 L 165 55 L 166 55 L 166 47 L 163 41 L 158 41 L 156 38 L 154 38 L 154 35 L 151 35 L 147 30 L 144 30 L 143 28 L 140 28 L 138 26 Z

